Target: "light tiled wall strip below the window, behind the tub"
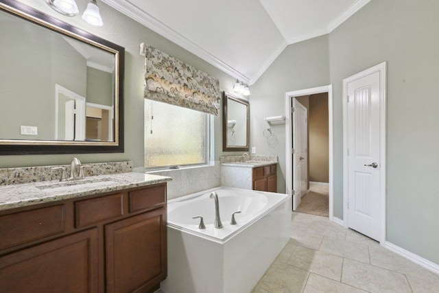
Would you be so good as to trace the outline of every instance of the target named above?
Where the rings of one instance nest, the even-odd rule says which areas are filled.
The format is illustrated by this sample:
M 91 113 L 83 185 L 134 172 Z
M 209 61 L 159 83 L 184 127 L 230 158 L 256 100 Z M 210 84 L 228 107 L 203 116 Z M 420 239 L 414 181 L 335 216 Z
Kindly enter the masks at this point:
M 221 186 L 219 161 L 215 161 L 211 165 L 156 171 L 148 170 L 145 167 L 137 167 L 133 169 L 133 172 L 171 177 L 172 181 L 167 183 L 168 200 Z

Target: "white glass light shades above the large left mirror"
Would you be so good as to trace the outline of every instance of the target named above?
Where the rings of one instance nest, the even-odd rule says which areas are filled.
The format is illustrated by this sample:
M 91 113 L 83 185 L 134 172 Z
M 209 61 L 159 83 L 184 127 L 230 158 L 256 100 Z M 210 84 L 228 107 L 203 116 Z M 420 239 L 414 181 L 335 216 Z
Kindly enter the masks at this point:
M 78 5 L 76 5 L 75 0 L 45 0 L 47 5 L 53 8 L 56 12 L 73 17 L 78 15 L 80 11 L 78 10 Z M 87 23 L 95 26 L 102 27 L 104 23 L 102 22 L 101 14 L 99 14 L 99 7 L 97 7 L 96 0 L 91 0 L 87 4 L 87 8 L 82 14 L 82 19 Z

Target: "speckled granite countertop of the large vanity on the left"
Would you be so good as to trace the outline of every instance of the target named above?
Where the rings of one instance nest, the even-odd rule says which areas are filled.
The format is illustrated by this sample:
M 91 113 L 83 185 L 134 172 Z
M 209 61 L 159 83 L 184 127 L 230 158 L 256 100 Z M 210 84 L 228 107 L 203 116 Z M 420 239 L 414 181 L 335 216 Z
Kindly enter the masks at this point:
M 63 182 L 52 180 L 3 185 L 0 186 L 0 211 L 43 202 L 67 200 L 69 198 L 164 183 L 170 180 L 172 180 L 171 177 L 128 172 L 90 176 L 85 179 Z

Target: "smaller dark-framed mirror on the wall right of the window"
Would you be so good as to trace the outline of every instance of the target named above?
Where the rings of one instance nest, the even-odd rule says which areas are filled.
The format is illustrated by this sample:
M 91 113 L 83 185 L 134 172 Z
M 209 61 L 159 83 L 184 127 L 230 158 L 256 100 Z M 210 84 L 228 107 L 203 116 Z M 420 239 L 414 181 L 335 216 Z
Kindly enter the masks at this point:
M 223 152 L 248 151 L 250 105 L 245 99 L 223 92 Z

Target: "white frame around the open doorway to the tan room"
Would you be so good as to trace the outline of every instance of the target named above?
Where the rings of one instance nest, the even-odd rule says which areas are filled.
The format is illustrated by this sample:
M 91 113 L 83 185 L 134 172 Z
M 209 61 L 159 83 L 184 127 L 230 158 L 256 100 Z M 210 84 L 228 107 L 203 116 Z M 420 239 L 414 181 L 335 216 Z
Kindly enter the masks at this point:
M 328 124 L 329 124 L 329 220 L 333 221 L 333 97 L 332 84 L 318 86 L 311 89 L 289 91 L 285 93 L 285 184 L 286 192 L 292 196 L 293 166 L 292 166 L 292 98 L 302 95 L 314 95 L 316 93 L 328 93 Z M 309 148 L 309 146 L 308 146 Z

